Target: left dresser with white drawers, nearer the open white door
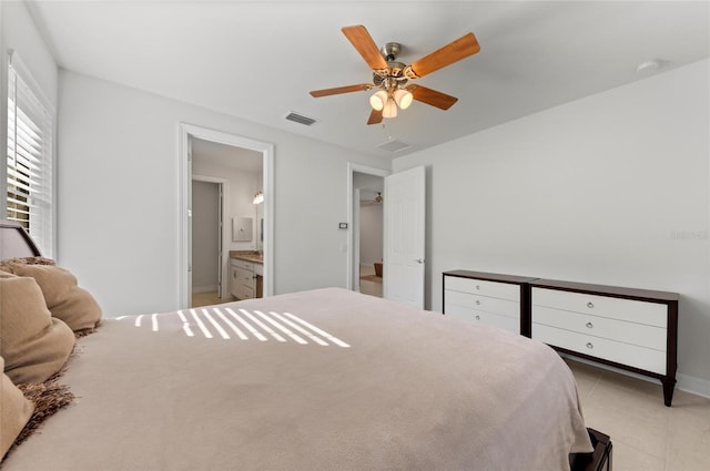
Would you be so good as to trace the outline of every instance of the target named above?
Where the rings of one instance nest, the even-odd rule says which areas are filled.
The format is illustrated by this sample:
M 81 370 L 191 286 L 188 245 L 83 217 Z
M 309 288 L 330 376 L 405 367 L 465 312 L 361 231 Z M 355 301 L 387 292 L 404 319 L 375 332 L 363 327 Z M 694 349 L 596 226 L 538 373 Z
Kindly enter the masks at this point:
M 444 273 L 444 315 L 529 336 L 534 278 L 483 272 Z

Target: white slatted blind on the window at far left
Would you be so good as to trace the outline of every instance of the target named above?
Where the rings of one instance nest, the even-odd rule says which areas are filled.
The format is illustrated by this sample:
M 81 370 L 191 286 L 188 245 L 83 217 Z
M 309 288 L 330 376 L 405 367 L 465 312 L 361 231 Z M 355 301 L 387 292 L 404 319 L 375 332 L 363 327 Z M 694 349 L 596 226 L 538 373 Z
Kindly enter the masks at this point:
M 53 110 L 16 52 L 8 66 L 7 218 L 53 256 Z

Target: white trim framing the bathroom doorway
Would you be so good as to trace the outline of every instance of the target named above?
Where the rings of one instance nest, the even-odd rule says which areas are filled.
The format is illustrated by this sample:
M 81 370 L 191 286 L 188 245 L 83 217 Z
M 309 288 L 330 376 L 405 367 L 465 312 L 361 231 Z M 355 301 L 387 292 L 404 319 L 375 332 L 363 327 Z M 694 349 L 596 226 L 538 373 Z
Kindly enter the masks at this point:
M 264 194 L 264 296 L 274 294 L 274 144 L 255 141 L 222 131 L 211 130 L 194 124 L 179 123 L 178 154 L 180 162 L 180 254 L 179 254 L 179 297 L 180 306 L 189 308 L 192 298 L 191 278 L 191 185 L 192 185 L 192 151 L 191 137 L 212 141 L 233 147 L 248 149 L 261 152 L 263 158 Z

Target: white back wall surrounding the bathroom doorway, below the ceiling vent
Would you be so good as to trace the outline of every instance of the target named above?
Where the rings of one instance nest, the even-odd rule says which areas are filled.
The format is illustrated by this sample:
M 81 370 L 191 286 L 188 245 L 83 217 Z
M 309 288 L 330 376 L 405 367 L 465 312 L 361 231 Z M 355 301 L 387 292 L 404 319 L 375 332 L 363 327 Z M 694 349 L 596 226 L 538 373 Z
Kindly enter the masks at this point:
M 275 144 L 276 294 L 346 285 L 347 161 L 389 165 L 67 71 L 59 120 L 59 259 L 106 316 L 180 307 L 180 122 Z

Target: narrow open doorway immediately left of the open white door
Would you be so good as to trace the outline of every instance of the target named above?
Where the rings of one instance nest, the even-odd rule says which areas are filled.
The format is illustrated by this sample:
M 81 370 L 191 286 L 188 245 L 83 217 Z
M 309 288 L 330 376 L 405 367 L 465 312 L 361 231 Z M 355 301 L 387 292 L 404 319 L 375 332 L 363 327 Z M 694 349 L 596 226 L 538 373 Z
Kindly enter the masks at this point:
M 348 289 L 383 295 L 384 177 L 388 171 L 348 164 Z

